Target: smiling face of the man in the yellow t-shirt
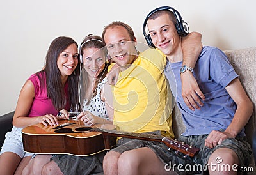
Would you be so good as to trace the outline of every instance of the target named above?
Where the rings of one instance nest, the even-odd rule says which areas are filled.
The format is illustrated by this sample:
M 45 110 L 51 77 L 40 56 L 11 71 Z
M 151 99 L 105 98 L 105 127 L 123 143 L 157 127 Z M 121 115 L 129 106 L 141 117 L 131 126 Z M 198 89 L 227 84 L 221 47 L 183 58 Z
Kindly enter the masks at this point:
M 109 27 L 104 35 L 109 56 L 120 66 L 123 71 L 138 57 L 135 45 L 136 40 L 131 41 L 128 31 L 122 26 Z

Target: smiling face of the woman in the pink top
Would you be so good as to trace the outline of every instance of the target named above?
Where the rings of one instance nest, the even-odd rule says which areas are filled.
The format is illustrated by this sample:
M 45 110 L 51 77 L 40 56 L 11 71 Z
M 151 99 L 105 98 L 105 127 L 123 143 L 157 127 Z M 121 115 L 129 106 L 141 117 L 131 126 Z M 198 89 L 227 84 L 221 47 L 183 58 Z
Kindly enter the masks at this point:
M 57 66 L 61 73 L 61 78 L 67 78 L 76 69 L 78 64 L 78 53 L 76 44 L 69 45 L 57 59 Z

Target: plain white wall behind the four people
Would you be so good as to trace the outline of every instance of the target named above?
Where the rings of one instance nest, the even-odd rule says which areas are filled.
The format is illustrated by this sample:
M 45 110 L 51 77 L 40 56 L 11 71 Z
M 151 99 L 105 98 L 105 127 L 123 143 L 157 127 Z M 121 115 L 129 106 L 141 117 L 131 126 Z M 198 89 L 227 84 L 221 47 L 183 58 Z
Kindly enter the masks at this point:
M 255 5 L 254 0 L 2 1 L 0 115 L 15 110 L 22 85 L 44 66 L 49 44 L 57 36 L 80 43 L 87 34 L 101 35 L 104 26 L 121 20 L 134 29 L 139 42 L 145 42 L 145 16 L 158 6 L 173 6 L 190 31 L 202 33 L 204 45 L 243 49 L 256 46 Z

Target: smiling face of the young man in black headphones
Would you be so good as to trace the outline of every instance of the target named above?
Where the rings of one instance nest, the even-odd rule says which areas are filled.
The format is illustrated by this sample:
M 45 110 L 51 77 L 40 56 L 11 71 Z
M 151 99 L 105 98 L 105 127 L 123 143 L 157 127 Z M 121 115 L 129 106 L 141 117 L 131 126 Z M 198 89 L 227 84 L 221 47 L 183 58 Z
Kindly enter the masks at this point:
M 166 56 L 172 55 L 179 46 L 180 36 L 169 15 L 164 14 L 156 19 L 149 19 L 147 25 L 152 43 L 156 48 Z

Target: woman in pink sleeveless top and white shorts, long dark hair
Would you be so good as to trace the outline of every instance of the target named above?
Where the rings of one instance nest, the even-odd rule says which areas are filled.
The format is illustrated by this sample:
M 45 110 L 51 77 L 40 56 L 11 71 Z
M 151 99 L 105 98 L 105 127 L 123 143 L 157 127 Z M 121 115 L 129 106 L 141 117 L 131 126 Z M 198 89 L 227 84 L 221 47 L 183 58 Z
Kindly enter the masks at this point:
M 21 174 L 31 158 L 31 154 L 23 150 L 22 128 L 36 123 L 58 125 L 59 119 L 65 119 L 64 116 L 57 116 L 60 110 L 76 108 L 79 100 L 78 57 L 77 43 L 72 38 L 60 36 L 52 41 L 43 70 L 31 75 L 25 82 L 13 116 L 12 131 L 6 133 L 1 149 L 2 174 Z

